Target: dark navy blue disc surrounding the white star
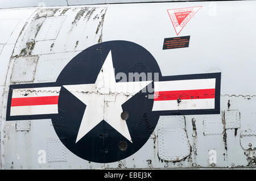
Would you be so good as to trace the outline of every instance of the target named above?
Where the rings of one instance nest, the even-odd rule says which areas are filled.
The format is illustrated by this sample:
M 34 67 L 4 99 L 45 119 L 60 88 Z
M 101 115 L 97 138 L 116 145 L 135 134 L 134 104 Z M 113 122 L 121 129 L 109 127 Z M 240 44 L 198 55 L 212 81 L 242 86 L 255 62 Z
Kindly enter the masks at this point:
M 106 41 L 93 45 L 72 58 L 56 82 L 60 85 L 95 83 L 110 50 L 115 75 L 125 73 L 128 78 L 129 73 L 146 73 L 150 80 L 154 80 L 154 73 L 160 75 L 155 58 L 140 45 L 130 41 Z M 154 87 L 154 81 L 148 86 Z M 140 91 L 122 104 L 122 110 L 129 113 L 126 124 L 133 142 L 104 120 L 76 142 L 86 105 L 63 86 L 59 95 L 59 114 L 52 118 L 54 129 L 61 142 L 80 158 L 98 163 L 119 161 L 141 149 L 158 123 L 159 115 L 152 112 L 154 99 L 148 99 L 148 94 L 154 92 L 148 92 L 148 89 L 147 92 Z M 93 112 L 95 115 L 97 113 Z

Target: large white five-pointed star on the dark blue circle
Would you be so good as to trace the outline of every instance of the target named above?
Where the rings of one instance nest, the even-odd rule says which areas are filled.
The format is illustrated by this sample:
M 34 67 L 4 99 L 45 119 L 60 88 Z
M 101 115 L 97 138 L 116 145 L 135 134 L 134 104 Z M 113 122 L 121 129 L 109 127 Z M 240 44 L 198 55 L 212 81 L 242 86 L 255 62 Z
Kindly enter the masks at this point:
M 126 120 L 121 118 L 122 104 L 151 82 L 115 82 L 112 53 L 110 51 L 95 83 L 64 86 L 65 89 L 86 104 L 76 142 L 102 120 L 105 120 L 132 142 Z

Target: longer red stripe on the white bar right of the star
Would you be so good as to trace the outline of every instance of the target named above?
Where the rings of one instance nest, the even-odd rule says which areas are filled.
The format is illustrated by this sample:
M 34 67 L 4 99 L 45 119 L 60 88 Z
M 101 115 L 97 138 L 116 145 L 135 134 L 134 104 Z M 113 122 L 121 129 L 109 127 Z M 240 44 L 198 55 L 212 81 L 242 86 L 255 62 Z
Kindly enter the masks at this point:
M 215 98 L 215 89 L 179 90 L 155 92 L 154 100 L 210 99 Z

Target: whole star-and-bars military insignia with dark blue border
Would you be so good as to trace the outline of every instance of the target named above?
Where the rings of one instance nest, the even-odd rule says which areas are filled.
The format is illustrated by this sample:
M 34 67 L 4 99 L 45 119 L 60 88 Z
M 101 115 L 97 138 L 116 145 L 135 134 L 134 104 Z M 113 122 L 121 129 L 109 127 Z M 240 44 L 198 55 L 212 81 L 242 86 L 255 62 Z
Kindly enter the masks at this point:
M 51 119 L 72 153 L 115 162 L 142 148 L 161 115 L 220 113 L 220 76 L 162 76 L 140 45 L 106 41 L 72 58 L 56 82 L 10 85 L 6 120 Z

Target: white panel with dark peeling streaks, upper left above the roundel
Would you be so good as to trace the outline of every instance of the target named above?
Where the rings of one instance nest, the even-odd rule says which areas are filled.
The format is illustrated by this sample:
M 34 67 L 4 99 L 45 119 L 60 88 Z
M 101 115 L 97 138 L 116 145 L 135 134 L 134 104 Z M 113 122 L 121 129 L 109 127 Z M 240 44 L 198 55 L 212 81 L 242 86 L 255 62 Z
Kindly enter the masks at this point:
M 107 7 L 69 9 L 37 10 L 23 27 L 12 57 L 71 52 L 100 43 Z

